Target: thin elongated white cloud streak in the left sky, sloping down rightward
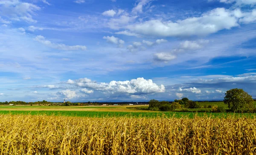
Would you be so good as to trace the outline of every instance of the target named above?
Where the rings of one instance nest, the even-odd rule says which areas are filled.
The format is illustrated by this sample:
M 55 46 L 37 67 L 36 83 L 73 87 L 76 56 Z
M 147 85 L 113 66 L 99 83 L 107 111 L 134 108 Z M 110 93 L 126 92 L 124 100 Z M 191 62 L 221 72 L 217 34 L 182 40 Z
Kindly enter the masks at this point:
M 75 46 L 67 46 L 65 44 L 52 43 L 49 40 L 46 40 L 44 36 L 38 35 L 35 37 L 35 40 L 39 43 L 43 43 L 46 46 L 49 46 L 53 49 L 61 49 L 61 50 L 86 50 L 86 46 L 75 45 Z

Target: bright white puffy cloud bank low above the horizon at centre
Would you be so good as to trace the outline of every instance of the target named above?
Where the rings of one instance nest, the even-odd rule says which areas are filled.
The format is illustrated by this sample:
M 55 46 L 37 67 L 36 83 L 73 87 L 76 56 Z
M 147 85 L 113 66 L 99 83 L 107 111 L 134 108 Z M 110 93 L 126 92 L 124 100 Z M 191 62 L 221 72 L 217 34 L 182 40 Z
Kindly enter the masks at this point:
M 151 79 L 145 80 L 144 78 L 137 78 L 126 81 L 111 81 L 110 83 L 99 84 L 95 81 L 93 82 L 90 79 L 84 78 L 84 80 L 68 80 L 66 83 L 79 87 L 94 89 L 99 92 L 107 92 L 108 94 L 127 93 L 130 95 L 140 95 L 165 92 L 165 87 L 163 85 L 158 86 L 156 83 L 153 83 Z

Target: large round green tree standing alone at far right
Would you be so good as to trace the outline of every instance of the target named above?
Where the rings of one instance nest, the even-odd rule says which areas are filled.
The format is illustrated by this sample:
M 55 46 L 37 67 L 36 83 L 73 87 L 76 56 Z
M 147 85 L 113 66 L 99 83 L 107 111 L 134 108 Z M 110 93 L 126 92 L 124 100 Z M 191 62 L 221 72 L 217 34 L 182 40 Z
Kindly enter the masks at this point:
M 253 98 L 243 89 L 230 89 L 225 93 L 224 103 L 232 111 L 251 110 L 253 108 Z

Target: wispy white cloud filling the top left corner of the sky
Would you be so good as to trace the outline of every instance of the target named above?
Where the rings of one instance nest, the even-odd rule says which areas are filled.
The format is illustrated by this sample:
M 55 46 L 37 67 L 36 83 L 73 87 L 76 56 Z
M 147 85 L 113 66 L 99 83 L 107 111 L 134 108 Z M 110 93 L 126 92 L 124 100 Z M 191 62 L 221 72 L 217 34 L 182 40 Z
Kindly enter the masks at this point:
M 15 21 L 25 21 L 29 23 L 36 23 L 37 21 L 32 18 L 35 11 L 41 8 L 32 4 L 21 2 L 20 0 L 1 0 L 0 10 L 2 14 Z M 11 14 L 9 14 L 11 12 Z M 5 14 L 6 13 L 6 14 Z

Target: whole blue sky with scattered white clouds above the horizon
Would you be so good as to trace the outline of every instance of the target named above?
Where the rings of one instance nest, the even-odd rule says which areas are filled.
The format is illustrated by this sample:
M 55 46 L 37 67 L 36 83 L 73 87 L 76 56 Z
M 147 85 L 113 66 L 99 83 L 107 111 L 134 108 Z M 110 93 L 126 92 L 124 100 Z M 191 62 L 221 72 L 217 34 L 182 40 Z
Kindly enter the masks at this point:
M 256 98 L 256 0 L 0 0 L 0 101 Z

